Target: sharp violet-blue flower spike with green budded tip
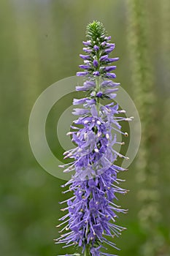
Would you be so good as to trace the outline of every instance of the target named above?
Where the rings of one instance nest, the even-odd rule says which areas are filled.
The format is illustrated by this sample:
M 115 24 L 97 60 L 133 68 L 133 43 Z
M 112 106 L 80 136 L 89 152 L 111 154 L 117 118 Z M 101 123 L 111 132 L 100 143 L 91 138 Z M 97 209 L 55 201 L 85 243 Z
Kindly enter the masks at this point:
M 101 22 L 93 21 L 87 26 L 87 42 L 83 42 L 83 50 L 87 56 L 80 55 L 84 65 L 80 68 L 85 71 L 77 72 L 77 76 L 84 76 L 85 82 L 77 86 L 77 91 L 87 91 L 83 99 L 74 99 L 73 105 L 82 104 L 82 108 L 74 108 L 73 114 L 80 116 L 72 126 L 72 141 L 76 148 L 66 151 L 64 158 L 71 158 L 70 164 L 62 165 L 65 173 L 74 171 L 72 178 L 63 187 L 69 185 L 65 192 L 72 192 L 73 196 L 62 203 L 67 203 L 67 211 L 62 217 L 60 232 L 65 232 L 60 238 L 55 239 L 56 244 L 65 244 L 63 247 L 74 246 L 74 256 L 81 252 L 85 256 L 109 256 L 103 252 L 106 246 L 115 246 L 113 238 L 119 236 L 124 227 L 116 224 L 118 213 L 127 211 L 115 204 L 117 193 L 125 194 L 126 189 L 118 187 L 120 184 L 117 173 L 124 171 L 117 166 L 117 157 L 123 156 L 115 151 L 118 142 L 114 131 L 120 132 L 125 137 L 127 132 L 121 130 L 121 121 L 131 121 L 132 118 L 120 116 L 125 110 L 120 110 L 114 102 L 103 105 L 103 99 L 114 99 L 119 83 L 114 83 L 110 78 L 115 78 L 116 66 L 109 66 L 118 58 L 109 58 L 109 53 L 115 48 L 110 43 L 111 37 L 107 36 Z M 109 78 L 109 79 L 108 79 Z M 63 192 L 63 193 L 65 193 Z M 109 239 L 107 239 L 109 238 Z

